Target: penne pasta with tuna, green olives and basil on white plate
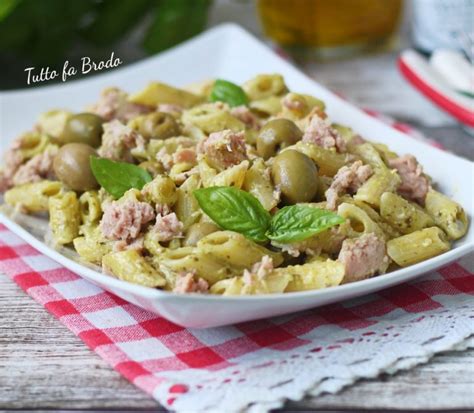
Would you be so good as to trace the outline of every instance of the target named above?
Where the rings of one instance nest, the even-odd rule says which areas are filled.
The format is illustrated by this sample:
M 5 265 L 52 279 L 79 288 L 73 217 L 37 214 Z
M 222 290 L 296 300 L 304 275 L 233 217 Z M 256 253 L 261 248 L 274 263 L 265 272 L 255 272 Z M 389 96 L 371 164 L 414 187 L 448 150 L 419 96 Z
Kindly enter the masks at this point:
M 332 123 L 277 74 L 46 112 L 5 154 L 0 192 L 47 214 L 54 246 L 176 293 L 333 287 L 442 254 L 468 227 L 414 156 Z

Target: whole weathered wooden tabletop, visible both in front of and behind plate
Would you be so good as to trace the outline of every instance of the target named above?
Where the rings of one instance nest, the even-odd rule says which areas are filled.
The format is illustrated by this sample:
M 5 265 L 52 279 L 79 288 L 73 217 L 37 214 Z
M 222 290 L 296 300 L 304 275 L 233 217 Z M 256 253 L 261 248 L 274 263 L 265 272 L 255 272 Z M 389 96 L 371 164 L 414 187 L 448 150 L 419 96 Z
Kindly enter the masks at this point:
M 238 20 L 259 33 L 248 2 L 218 1 L 211 24 Z M 397 53 L 303 65 L 360 106 L 411 123 L 448 150 L 474 159 L 474 137 L 398 74 Z M 439 354 L 394 376 L 363 380 L 337 395 L 289 403 L 290 410 L 474 409 L 474 350 Z M 157 409 L 39 304 L 0 274 L 0 409 Z

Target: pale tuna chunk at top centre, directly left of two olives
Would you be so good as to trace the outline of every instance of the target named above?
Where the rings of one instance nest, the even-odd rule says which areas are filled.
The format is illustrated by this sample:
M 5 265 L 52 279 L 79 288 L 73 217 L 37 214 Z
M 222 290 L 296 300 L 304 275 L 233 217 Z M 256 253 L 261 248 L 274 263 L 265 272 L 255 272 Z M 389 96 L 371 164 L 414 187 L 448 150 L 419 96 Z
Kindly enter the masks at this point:
M 199 143 L 197 150 L 206 155 L 212 166 L 221 170 L 247 159 L 244 132 L 232 132 L 229 129 L 211 133 Z

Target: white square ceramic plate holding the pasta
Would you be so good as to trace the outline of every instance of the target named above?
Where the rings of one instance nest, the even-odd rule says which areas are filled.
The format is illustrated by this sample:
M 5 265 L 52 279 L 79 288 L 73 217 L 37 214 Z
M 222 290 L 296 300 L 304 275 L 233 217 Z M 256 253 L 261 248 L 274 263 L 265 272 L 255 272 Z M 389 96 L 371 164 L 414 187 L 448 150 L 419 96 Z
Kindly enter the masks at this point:
M 351 126 L 368 139 L 386 143 L 398 153 L 414 154 L 441 191 L 463 205 L 472 219 L 472 162 L 415 141 L 371 118 L 306 77 L 240 27 L 231 24 L 216 27 L 159 56 L 111 73 L 61 85 L 3 93 L 0 95 L 0 149 L 3 152 L 9 140 L 28 129 L 29 125 L 33 125 L 41 112 L 61 107 L 79 111 L 94 102 L 99 92 L 107 86 L 119 86 L 127 91 L 135 91 L 151 80 L 160 80 L 175 86 L 210 78 L 243 82 L 258 73 L 281 73 L 291 90 L 323 99 L 329 116 L 335 122 Z M 4 137 L 7 137 L 6 141 Z M 466 237 L 456 242 L 453 249 L 445 254 L 387 275 L 352 284 L 318 291 L 268 296 L 179 295 L 103 275 L 49 248 L 42 241 L 42 234 L 34 235 L 28 232 L 25 224 L 20 225 L 1 214 L 0 221 L 43 254 L 76 274 L 125 300 L 186 327 L 215 327 L 357 297 L 418 277 L 474 250 L 474 228 L 471 225 Z

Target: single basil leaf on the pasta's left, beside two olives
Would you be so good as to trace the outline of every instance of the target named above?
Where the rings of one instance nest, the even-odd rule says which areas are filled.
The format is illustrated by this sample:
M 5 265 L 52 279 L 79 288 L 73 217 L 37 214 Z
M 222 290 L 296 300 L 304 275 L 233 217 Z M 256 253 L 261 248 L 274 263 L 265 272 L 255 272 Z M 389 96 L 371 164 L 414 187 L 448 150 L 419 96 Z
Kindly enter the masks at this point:
M 152 179 L 147 171 L 131 163 L 91 157 L 90 165 L 97 182 L 115 199 L 130 188 L 142 189 Z

